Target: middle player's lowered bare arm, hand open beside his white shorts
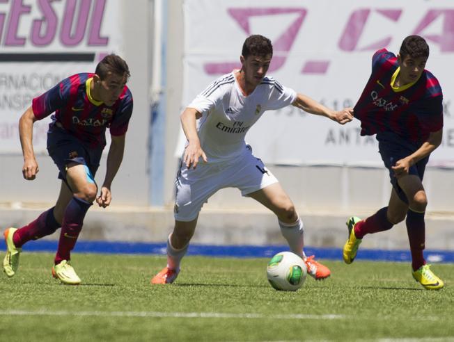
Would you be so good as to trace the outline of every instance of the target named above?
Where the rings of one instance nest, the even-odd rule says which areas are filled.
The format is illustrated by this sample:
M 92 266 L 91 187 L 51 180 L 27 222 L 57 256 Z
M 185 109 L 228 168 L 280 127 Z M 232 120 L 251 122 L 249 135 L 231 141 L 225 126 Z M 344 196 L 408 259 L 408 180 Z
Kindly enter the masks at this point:
M 198 113 L 194 108 L 186 108 L 185 111 L 180 115 L 181 125 L 183 131 L 185 131 L 185 136 L 187 138 L 188 144 L 185 148 L 185 154 L 183 156 L 183 163 L 186 164 L 186 167 L 189 169 L 196 168 L 198 164 L 198 159 L 202 157 L 203 161 L 207 162 L 207 156 L 201 147 L 201 142 L 198 139 L 196 120 L 201 117 L 201 113 Z

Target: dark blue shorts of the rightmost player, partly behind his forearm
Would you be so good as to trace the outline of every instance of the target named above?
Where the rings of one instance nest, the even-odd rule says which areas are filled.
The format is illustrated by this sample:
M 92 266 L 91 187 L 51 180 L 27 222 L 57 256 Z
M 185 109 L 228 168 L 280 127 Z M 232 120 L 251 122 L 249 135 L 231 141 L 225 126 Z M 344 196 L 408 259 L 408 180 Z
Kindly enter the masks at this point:
M 394 173 L 394 170 L 391 169 L 391 166 L 396 165 L 396 162 L 400 159 L 413 154 L 419 147 L 421 147 L 422 142 L 412 142 L 392 132 L 377 133 L 377 140 L 379 154 L 380 156 L 382 156 L 384 165 L 389 170 L 389 178 L 391 184 L 393 185 L 394 190 L 396 190 L 399 198 L 403 202 L 408 204 L 407 196 L 403 192 L 402 188 L 400 188 L 396 174 Z M 428 163 L 428 161 L 429 156 L 426 156 L 425 158 L 421 159 L 421 161 L 418 161 L 418 163 L 412 165 L 412 167 L 409 168 L 408 173 L 418 176 L 422 181 L 424 177 L 425 165 Z

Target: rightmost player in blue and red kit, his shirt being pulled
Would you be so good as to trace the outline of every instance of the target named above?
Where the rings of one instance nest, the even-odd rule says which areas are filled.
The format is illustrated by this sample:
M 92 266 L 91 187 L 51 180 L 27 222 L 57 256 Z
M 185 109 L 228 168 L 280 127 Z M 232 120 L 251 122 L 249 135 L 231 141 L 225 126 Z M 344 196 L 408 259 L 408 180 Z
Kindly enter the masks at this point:
M 352 263 L 363 236 L 386 231 L 405 220 L 412 253 L 412 275 L 424 288 L 444 286 L 425 263 L 424 213 L 427 196 L 422 184 L 430 154 L 441 144 L 443 93 L 425 63 L 429 47 L 418 35 L 402 42 L 398 56 L 386 49 L 375 52 L 372 74 L 354 117 L 361 120 L 361 136 L 376 134 L 379 153 L 393 186 L 388 206 L 361 220 L 347 220 L 345 263 Z

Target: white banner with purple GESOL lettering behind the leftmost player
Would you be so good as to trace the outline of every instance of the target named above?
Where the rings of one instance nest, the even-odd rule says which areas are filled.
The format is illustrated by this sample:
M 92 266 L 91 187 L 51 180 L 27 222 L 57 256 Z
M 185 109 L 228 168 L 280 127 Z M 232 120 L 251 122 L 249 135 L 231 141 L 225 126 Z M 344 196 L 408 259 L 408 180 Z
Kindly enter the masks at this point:
M 31 99 L 120 53 L 120 0 L 0 1 L 0 153 L 20 153 L 19 117 Z M 45 152 L 49 117 L 33 125 Z

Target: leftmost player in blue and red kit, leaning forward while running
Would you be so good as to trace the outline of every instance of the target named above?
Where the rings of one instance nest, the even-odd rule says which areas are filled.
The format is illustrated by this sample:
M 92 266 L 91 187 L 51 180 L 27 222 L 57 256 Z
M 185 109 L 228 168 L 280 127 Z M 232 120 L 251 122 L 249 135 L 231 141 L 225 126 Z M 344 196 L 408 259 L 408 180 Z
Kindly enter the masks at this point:
M 24 154 L 22 173 L 33 180 L 38 163 L 33 152 L 33 123 L 52 115 L 47 132 L 47 151 L 62 179 L 60 195 L 51 209 L 28 225 L 4 231 L 7 252 L 3 270 L 13 277 L 19 266 L 22 245 L 54 233 L 61 227 L 52 275 L 63 284 L 79 284 L 80 278 L 70 265 L 86 212 L 96 200 L 105 208 L 111 202 L 111 183 L 123 159 L 125 134 L 132 115 L 132 94 L 126 86 L 130 70 L 125 60 L 105 56 L 95 74 L 75 74 L 33 99 L 19 120 L 19 135 Z M 111 144 L 104 183 L 97 197 L 95 173 L 106 145 L 109 127 Z

